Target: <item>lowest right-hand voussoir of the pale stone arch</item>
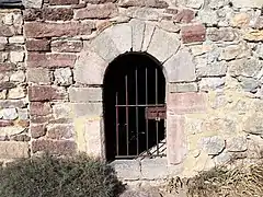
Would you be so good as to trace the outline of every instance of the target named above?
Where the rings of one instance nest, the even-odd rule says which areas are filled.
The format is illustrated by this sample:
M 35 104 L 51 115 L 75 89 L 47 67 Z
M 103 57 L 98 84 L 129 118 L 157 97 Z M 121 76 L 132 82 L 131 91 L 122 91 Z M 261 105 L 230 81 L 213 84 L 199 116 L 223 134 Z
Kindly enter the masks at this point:
M 169 82 L 195 81 L 195 65 L 193 57 L 186 49 L 179 51 L 164 62 Z

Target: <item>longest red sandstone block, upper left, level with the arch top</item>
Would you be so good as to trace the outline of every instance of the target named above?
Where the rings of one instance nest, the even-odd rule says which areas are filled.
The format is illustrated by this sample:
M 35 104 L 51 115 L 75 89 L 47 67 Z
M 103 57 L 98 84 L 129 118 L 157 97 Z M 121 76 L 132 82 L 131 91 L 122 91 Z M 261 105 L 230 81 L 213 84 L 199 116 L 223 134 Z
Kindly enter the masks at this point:
M 78 23 L 41 23 L 31 22 L 24 24 L 24 32 L 26 37 L 42 38 L 42 37 L 61 37 L 61 36 L 77 36 L 90 35 L 94 27 L 93 22 Z

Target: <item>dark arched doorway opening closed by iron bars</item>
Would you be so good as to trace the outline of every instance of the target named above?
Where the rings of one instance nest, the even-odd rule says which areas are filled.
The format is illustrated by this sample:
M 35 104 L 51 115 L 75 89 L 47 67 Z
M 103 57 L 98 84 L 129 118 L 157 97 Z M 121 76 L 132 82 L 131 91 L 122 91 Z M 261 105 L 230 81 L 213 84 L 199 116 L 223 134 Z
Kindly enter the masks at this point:
M 112 61 L 103 82 L 107 161 L 164 155 L 165 78 L 160 63 L 142 53 Z

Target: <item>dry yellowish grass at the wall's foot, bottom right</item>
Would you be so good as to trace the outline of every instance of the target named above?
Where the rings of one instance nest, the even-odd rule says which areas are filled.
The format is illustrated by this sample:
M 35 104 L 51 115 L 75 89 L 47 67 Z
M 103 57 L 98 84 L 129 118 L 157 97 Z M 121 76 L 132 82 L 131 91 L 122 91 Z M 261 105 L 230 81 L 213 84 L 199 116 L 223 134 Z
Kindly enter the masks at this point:
M 197 176 L 169 182 L 169 187 L 185 187 L 188 197 L 263 197 L 263 162 L 235 169 L 215 167 Z

